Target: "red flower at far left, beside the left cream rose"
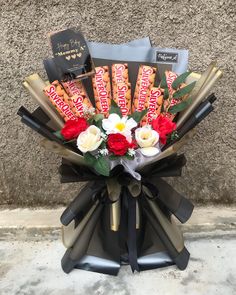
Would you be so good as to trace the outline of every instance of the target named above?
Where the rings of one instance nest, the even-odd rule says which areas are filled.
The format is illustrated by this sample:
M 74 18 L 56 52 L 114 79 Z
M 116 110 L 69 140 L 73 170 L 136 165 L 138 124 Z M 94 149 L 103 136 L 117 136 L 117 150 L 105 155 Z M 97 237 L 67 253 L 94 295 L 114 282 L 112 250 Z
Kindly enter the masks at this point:
M 88 128 L 88 123 L 84 118 L 77 118 L 77 120 L 68 120 L 61 130 L 62 136 L 66 140 L 71 140 L 79 136 L 82 131 Z

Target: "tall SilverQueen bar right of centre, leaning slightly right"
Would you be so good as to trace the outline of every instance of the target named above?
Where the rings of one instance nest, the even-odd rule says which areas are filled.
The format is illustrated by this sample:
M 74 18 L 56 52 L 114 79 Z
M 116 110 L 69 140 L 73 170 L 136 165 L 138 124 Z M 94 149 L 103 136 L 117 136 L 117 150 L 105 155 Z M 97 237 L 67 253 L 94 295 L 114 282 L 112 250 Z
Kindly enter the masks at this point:
M 154 86 L 156 71 L 156 68 L 150 66 L 141 65 L 139 67 L 132 112 L 141 112 L 145 109 L 149 92 Z

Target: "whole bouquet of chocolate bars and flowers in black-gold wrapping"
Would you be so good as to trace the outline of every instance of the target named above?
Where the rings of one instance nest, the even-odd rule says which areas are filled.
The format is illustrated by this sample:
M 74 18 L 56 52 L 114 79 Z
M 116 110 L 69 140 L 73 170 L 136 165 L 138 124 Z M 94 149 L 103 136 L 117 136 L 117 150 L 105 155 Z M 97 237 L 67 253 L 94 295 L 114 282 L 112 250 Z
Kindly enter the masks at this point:
M 221 71 L 213 62 L 201 75 L 175 72 L 176 57 L 165 50 L 156 63 L 93 58 L 71 29 L 51 43 L 49 83 L 37 74 L 24 82 L 40 107 L 18 114 L 62 157 L 62 183 L 87 182 L 61 216 L 63 270 L 185 269 L 189 252 L 172 216 L 186 222 L 193 205 L 162 177 L 181 176 L 186 159 L 177 151 L 213 110 Z

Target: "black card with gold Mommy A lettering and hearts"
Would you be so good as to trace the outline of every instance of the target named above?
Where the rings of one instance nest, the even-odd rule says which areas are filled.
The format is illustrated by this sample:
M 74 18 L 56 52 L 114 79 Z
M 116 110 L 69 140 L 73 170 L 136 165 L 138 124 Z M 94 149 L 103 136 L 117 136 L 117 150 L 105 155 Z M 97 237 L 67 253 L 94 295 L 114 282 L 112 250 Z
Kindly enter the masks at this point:
M 66 81 L 93 74 L 93 63 L 81 32 L 67 29 L 50 35 L 59 80 Z

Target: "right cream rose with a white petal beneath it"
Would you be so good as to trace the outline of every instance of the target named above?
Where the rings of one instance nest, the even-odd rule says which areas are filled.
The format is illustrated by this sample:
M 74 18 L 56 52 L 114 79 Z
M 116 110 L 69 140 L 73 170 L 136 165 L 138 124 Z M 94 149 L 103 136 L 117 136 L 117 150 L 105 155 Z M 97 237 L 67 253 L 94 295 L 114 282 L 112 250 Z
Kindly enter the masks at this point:
M 151 157 L 159 153 L 159 148 L 155 147 L 159 141 L 159 134 L 155 130 L 152 130 L 151 126 L 136 129 L 135 139 L 144 156 Z

